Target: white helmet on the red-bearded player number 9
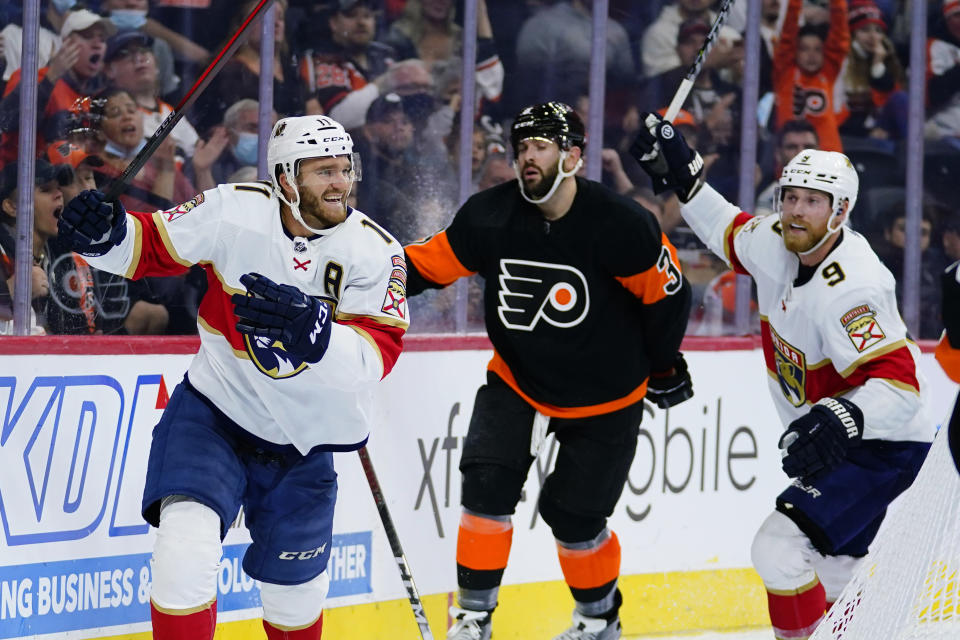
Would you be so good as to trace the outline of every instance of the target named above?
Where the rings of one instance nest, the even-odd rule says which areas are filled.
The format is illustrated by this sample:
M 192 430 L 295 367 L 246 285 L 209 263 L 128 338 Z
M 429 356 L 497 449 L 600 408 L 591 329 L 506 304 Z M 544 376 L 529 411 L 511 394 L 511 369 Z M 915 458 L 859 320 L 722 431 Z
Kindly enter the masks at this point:
M 860 178 L 853 168 L 850 158 L 836 151 L 821 151 L 819 149 L 804 149 L 793 157 L 780 174 L 780 181 L 774 190 L 773 208 L 778 216 L 783 215 L 781 206 L 784 187 L 803 187 L 815 189 L 830 195 L 833 212 L 827 221 L 827 233 L 813 248 L 804 251 L 803 255 L 813 253 L 819 249 L 827 239 L 840 230 L 843 224 L 834 226 L 836 220 L 843 213 L 843 205 L 847 207 L 847 220 L 853 205 L 857 203 L 857 192 L 860 190 Z

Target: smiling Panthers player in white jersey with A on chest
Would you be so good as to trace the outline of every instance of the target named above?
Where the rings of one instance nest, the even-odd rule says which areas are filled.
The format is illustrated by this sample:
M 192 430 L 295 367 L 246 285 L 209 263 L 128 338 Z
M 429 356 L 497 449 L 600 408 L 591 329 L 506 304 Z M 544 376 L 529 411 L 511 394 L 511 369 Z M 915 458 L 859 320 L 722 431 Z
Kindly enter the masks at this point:
M 150 604 L 162 640 L 213 637 L 221 540 L 241 505 L 267 638 L 320 638 L 332 452 L 366 442 L 366 395 L 409 323 L 403 248 L 346 205 L 360 177 L 350 135 L 330 118 L 285 118 L 267 160 L 269 183 L 156 213 L 85 191 L 60 219 L 98 269 L 207 273 L 200 351 L 154 429 L 143 495 L 159 527 Z

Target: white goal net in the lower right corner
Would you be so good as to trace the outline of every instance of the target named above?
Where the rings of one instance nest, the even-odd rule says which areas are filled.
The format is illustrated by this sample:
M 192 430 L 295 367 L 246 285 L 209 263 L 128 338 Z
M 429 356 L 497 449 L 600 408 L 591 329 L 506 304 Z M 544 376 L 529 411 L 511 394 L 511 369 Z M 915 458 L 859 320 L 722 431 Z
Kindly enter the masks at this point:
M 960 476 L 941 429 L 810 640 L 960 639 Z

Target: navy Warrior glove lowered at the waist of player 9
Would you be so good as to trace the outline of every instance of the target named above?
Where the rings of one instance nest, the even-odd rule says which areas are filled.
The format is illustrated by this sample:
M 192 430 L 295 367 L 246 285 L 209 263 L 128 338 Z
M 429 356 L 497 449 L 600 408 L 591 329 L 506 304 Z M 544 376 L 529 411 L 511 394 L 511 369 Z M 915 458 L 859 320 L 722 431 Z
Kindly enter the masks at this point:
M 822 398 L 780 437 L 783 470 L 810 478 L 840 464 L 863 438 L 863 412 L 844 398 Z

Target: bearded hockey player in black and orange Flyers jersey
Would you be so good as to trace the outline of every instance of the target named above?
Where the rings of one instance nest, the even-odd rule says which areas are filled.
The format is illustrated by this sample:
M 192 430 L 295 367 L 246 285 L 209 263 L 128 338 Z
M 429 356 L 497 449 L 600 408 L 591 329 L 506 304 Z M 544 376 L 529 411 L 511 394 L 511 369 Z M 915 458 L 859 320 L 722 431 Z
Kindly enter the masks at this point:
M 527 107 L 511 129 L 517 180 L 474 195 L 444 231 L 405 248 L 410 295 L 485 278 L 494 346 L 460 462 L 451 639 L 490 637 L 511 515 L 548 432 L 560 447 L 538 506 L 576 605 L 557 640 L 620 638 L 620 545 L 607 518 L 642 401 L 667 408 L 693 395 L 678 351 L 690 289 L 676 251 L 649 211 L 575 177 L 584 138 L 569 106 Z

